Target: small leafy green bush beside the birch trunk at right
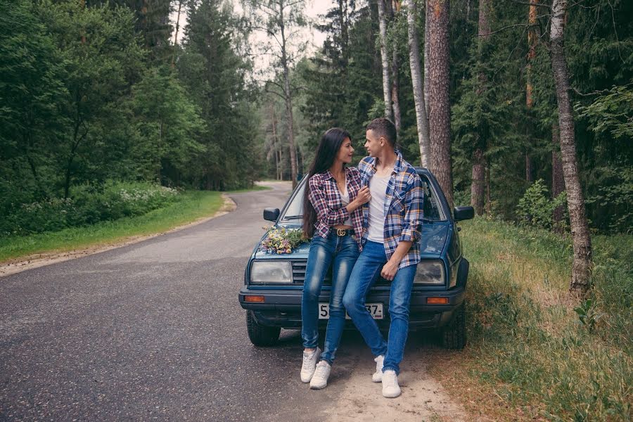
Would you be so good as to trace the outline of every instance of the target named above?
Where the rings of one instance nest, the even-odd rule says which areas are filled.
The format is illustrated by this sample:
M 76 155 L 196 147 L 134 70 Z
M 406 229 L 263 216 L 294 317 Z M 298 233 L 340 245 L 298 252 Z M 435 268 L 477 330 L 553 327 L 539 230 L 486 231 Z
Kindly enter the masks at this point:
M 520 224 L 553 229 L 556 225 L 554 221 L 554 210 L 558 207 L 567 209 L 567 196 L 565 191 L 554 199 L 550 199 L 547 194 L 543 179 L 535 181 L 520 198 L 516 207 L 516 214 Z M 562 227 L 558 227 L 561 229 Z

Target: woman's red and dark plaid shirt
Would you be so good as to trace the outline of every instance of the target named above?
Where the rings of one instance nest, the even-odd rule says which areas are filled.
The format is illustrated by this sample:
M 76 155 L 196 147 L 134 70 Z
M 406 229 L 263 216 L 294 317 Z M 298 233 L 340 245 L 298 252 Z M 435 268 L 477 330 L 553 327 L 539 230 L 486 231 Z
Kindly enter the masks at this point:
M 345 168 L 347 179 L 347 194 L 350 203 L 358 196 L 361 188 L 360 173 L 356 167 Z M 350 217 L 350 212 L 343 207 L 340 200 L 340 192 L 336 186 L 334 175 L 328 170 L 324 173 L 316 173 L 308 181 L 308 198 L 316 211 L 316 223 L 314 224 L 314 236 L 328 237 L 332 226 L 343 224 Z M 352 211 L 352 226 L 356 234 L 358 247 L 362 248 L 360 234 L 363 232 L 362 207 Z

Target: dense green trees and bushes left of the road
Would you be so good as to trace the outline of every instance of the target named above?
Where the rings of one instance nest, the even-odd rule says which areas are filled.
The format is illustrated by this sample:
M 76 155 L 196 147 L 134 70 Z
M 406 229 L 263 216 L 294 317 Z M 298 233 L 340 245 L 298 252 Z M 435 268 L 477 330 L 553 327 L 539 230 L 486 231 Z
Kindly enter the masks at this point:
M 174 46 L 169 0 L 0 1 L 3 232 L 110 218 L 72 211 L 82 186 L 252 185 L 260 122 L 241 23 L 222 1 L 188 6 Z

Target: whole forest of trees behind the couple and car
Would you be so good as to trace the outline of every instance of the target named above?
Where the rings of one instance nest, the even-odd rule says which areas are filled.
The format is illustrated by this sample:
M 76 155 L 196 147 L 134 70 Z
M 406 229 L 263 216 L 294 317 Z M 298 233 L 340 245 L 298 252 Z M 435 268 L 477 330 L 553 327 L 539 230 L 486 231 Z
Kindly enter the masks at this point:
M 0 236 L 115 218 L 124 184 L 296 181 L 380 116 L 452 204 L 573 234 L 581 288 L 591 234 L 633 230 L 630 1 L 0 4 Z

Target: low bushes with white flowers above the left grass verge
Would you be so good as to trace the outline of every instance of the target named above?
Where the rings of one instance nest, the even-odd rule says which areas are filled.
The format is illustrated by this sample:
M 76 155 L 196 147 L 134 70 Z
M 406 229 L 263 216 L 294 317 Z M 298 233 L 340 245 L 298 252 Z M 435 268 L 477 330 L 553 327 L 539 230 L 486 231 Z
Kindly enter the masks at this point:
M 70 198 L 12 204 L 0 222 L 0 236 L 59 231 L 143 215 L 174 203 L 177 194 L 172 188 L 139 182 L 108 181 L 101 186 L 77 186 Z

